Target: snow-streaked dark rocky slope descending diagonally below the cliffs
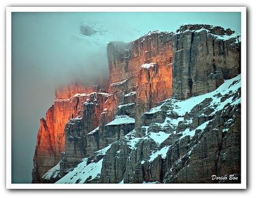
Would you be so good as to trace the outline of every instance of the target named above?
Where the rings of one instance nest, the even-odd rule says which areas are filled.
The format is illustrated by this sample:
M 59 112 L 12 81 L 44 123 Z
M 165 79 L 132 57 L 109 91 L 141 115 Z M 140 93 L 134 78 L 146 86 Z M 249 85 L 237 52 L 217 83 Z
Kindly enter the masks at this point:
M 225 156 L 233 152 L 231 151 L 234 147 L 232 142 L 227 143 L 229 149 L 223 145 L 227 141 L 225 138 L 228 139 L 229 135 L 237 130 L 235 126 L 239 122 L 237 112 L 240 111 L 240 86 L 240 75 L 238 75 L 225 80 L 213 92 L 187 100 L 170 98 L 161 102 L 159 106 L 144 113 L 141 126 L 136 127 L 120 140 L 95 152 L 91 157 L 83 159 L 73 171 L 57 183 L 178 182 L 180 177 L 184 180 L 183 171 L 186 170 L 188 174 L 196 167 L 193 162 L 199 163 L 195 155 L 198 155 L 196 152 L 200 150 L 202 152 L 200 155 L 207 154 L 213 159 L 218 157 L 216 162 L 216 159 L 209 162 L 209 157 L 197 157 L 203 164 L 206 163 L 204 165 L 206 170 L 215 169 L 211 167 L 213 166 L 211 161 L 217 164 L 221 162 L 219 166 L 222 167 L 225 162 L 221 160 L 225 161 Z M 148 122 L 149 117 L 151 123 L 145 125 L 146 122 L 143 120 L 147 119 Z M 159 117 L 163 117 L 162 122 L 159 121 Z M 206 147 L 207 145 L 213 148 L 219 147 L 215 146 L 215 144 L 218 145 L 215 141 L 221 140 L 222 142 L 219 150 L 214 151 L 211 148 L 216 155 L 208 154 L 208 151 L 204 151 L 205 145 L 201 145 L 208 140 L 209 136 L 214 137 L 210 139 L 212 142 L 206 142 Z M 230 137 L 233 136 L 230 135 Z M 186 149 L 183 148 L 184 142 L 186 142 Z M 174 149 L 177 146 L 180 151 L 175 151 L 178 152 L 175 153 Z M 184 151 L 181 152 L 181 150 Z M 200 163 L 198 166 L 201 166 Z M 151 169 L 153 166 L 154 169 Z M 54 171 L 50 170 L 50 172 Z M 104 172 L 103 175 L 102 172 Z M 191 175 L 186 176 L 188 182 L 194 181 L 190 180 L 193 178 Z

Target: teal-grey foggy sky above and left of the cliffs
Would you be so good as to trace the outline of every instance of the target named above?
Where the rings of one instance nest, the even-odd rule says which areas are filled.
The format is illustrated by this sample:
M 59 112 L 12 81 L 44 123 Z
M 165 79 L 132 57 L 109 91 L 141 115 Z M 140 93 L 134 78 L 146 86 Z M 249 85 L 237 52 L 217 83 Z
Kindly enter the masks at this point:
M 110 41 L 129 42 L 154 29 L 175 31 L 185 23 L 240 32 L 239 13 L 13 13 L 12 182 L 32 180 L 39 120 L 53 103 L 55 87 L 107 78 Z M 81 35 L 81 24 L 90 36 Z

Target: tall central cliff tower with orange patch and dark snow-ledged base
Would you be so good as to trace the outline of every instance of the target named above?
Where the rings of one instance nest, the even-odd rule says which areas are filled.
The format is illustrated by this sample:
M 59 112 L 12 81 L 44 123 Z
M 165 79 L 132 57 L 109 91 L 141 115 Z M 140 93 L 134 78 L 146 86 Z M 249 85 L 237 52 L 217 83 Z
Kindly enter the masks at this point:
M 167 33 L 154 32 L 132 43 L 111 42 L 107 46 L 110 86 L 100 126 L 88 133 L 82 122 L 71 122 L 75 127 L 71 132 L 70 121 L 67 123 L 65 156 L 60 163 L 62 176 L 83 157 L 125 136 L 145 110 L 171 96 L 172 51 L 170 41 L 166 42 L 168 37 Z M 156 63 L 148 64 L 152 61 Z

